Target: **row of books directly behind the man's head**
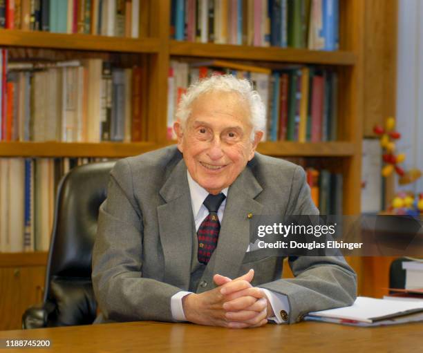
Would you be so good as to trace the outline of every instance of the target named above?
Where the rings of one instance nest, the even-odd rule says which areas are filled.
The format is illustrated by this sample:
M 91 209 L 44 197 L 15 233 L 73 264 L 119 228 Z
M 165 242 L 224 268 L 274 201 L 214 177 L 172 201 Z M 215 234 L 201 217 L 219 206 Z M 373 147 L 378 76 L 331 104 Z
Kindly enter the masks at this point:
M 337 140 L 338 78 L 333 70 L 287 66 L 282 70 L 231 61 L 171 61 L 168 79 L 168 137 L 172 138 L 176 106 L 193 84 L 209 75 L 231 74 L 250 79 L 266 105 L 267 141 L 326 142 Z

